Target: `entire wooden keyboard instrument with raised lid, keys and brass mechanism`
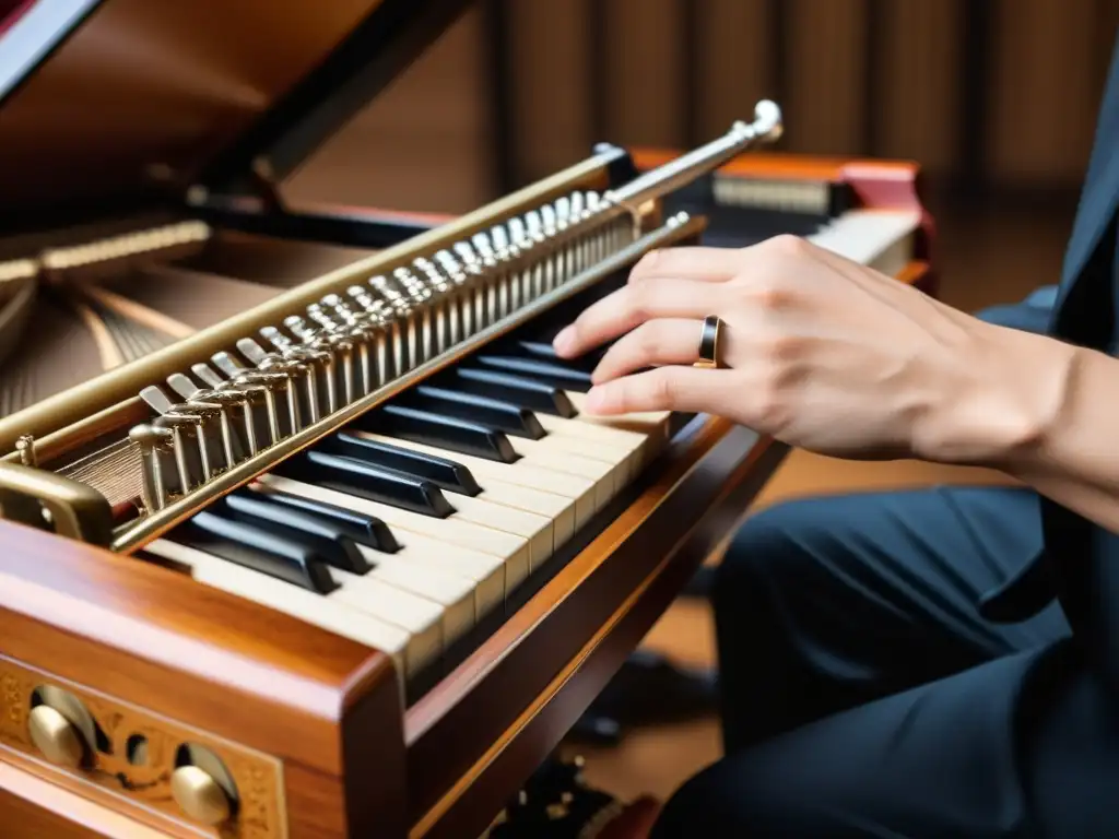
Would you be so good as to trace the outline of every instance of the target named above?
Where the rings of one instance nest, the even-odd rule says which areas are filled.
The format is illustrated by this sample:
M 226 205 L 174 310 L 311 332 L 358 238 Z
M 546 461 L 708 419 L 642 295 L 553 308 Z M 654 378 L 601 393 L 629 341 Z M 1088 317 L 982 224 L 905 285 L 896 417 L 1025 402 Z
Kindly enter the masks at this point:
M 551 336 L 712 201 L 927 275 L 912 168 L 734 175 L 780 133 L 768 102 L 441 224 L 286 206 L 274 178 L 455 6 L 223 0 L 215 38 L 205 2 L 74 2 L 3 86 L 35 303 L 3 368 L 34 387 L 0 420 L 0 816 L 29 836 L 481 832 L 783 454 L 583 416 L 594 359 Z M 105 51 L 125 37 L 150 53 Z M 103 371 L 28 351 L 55 347 L 40 303 Z

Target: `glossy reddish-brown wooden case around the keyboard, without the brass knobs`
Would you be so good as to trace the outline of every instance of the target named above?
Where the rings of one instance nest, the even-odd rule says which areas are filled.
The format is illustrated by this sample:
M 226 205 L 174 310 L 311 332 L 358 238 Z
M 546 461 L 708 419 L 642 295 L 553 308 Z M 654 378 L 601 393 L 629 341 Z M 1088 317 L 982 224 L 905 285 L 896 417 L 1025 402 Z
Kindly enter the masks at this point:
M 660 157 L 633 155 L 639 168 Z M 749 155 L 723 172 L 847 180 L 864 207 L 920 208 L 910 164 Z M 931 244 L 925 216 L 900 281 L 934 291 Z M 172 571 L 0 521 L 4 835 L 477 836 L 731 532 L 783 454 L 725 421 L 694 420 L 630 497 L 584 529 L 577 553 L 408 708 L 376 650 Z M 112 752 L 97 755 L 103 771 L 36 755 L 19 725 L 37 684 L 103 713 Z M 162 747 L 133 767 L 125 742 L 141 729 Z M 170 799 L 173 746 L 185 737 L 250 767 L 251 807 L 235 827 L 201 829 Z

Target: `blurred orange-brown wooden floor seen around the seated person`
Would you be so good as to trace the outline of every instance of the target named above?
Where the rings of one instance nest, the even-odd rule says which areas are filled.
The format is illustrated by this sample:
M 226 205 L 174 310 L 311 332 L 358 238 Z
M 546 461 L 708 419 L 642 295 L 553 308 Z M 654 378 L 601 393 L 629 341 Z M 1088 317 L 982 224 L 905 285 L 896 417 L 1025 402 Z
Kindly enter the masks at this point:
M 941 298 L 972 311 L 1018 300 L 1037 285 L 1055 282 L 1072 216 L 1068 207 L 1041 211 L 990 208 L 947 210 L 937 218 L 941 227 Z M 982 470 L 913 461 L 854 463 L 793 452 L 752 510 L 815 493 L 937 482 L 1005 483 L 1007 479 Z M 646 645 L 684 663 L 714 664 L 711 611 L 694 600 L 678 601 L 646 639 Z M 623 800 L 639 794 L 665 799 L 720 756 L 718 723 L 708 718 L 650 727 L 628 734 L 612 748 L 580 746 L 577 751 L 586 760 L 587 781 L 593 785 Z

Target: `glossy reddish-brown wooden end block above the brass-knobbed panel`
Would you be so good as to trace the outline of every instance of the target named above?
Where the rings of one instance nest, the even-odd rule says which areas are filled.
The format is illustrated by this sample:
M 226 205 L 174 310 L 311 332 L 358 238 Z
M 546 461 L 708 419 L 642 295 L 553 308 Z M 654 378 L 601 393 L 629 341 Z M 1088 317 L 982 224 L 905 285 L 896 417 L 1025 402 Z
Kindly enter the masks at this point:
M 0 532 L 6 658 L 280 758 L 292 836 L 403 829 L 402 710 L 386 656 L 148 563 L 9 522 Z M 120 795 L 2 754 L 152 821 Z

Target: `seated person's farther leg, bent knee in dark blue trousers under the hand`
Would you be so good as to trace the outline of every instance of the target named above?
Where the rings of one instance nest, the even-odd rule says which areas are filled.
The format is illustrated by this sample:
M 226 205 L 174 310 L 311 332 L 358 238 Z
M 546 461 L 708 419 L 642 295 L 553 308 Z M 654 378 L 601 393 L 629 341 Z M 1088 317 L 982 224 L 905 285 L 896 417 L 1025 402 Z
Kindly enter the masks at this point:
M 856 493 L 749 518 L 712 595 L 727 752 L 1068 631 L 977 610 L 1041 548 L 1037 496 Z

